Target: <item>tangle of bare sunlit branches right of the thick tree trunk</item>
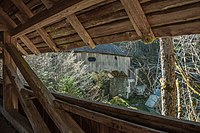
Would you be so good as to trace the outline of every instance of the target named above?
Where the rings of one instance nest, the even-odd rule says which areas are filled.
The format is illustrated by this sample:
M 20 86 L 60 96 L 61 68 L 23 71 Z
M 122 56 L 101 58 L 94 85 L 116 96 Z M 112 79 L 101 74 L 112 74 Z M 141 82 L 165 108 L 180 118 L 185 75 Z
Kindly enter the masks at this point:
M 181 119 L 199 121 L 200 40 L 198 35 L 174 38 L 176 75 L 180 85 Z M 199 113 L 200 114 L 200 113 Z

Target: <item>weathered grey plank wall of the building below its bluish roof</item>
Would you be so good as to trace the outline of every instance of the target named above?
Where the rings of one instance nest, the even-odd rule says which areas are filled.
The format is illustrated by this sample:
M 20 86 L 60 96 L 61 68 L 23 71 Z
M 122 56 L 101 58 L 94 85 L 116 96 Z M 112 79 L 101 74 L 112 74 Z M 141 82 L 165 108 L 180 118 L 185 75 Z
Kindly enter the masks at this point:
M 77 60 L 84 60 L 89 66 L 89 71 L 123 71 L 128 76 L 130 57 L 99 54 L 99 53 L 76 53 Z M 89 57 L 95 57 L 94 62 L 88 61 Z

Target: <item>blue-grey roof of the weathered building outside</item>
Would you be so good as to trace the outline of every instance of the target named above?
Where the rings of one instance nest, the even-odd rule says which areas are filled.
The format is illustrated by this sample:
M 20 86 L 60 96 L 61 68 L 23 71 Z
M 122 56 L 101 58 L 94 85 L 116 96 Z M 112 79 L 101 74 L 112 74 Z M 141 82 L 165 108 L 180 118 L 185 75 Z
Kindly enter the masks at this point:
M 74 52 L 85 52 L 85 53 L 101 53 L 101 54 L 111 54 L 118 56 L 131 56 L 127 50 L 120 48 L 114 44 L 102 44 L 97 45 L 95 48 L 90 48 L 88 46 L 75 48 Z

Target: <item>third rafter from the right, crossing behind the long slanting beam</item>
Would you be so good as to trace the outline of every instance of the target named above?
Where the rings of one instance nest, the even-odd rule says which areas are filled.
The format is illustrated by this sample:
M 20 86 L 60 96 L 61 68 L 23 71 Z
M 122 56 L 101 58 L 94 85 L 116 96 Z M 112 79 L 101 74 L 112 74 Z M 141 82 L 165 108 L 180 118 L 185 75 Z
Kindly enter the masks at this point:
M 34 16 L 32 11 L 24 4 L 22 0 L 12 0 L 13 4 L 24 14 L 26 14 L 29 18 Z M 20 16 L 19 16 L 20 17 Z M 19 20 L 23 23 L 23 18 L 19 18 Z M 56 44 L 54 43 L 53 39 L 48 35 L 44 28 L 40 28 L 36 30 L 38 34 L 42 37 L 42 39 L 46 42 L 46 44 L 53 50 L 58 52 L 59 49 L 57 48 Z

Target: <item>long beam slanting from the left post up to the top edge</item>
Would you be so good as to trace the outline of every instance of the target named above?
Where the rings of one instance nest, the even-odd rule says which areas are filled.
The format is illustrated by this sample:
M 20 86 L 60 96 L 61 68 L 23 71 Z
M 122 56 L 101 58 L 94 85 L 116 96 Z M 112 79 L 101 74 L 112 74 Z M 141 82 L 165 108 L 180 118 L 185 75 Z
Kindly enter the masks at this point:
M 22 36 L 104 1 L 106 0 L 63 0 L 62 2 L 58 2 L 52 8 L 33 16 L 25 24 L 11 30 L 11 36 Z

